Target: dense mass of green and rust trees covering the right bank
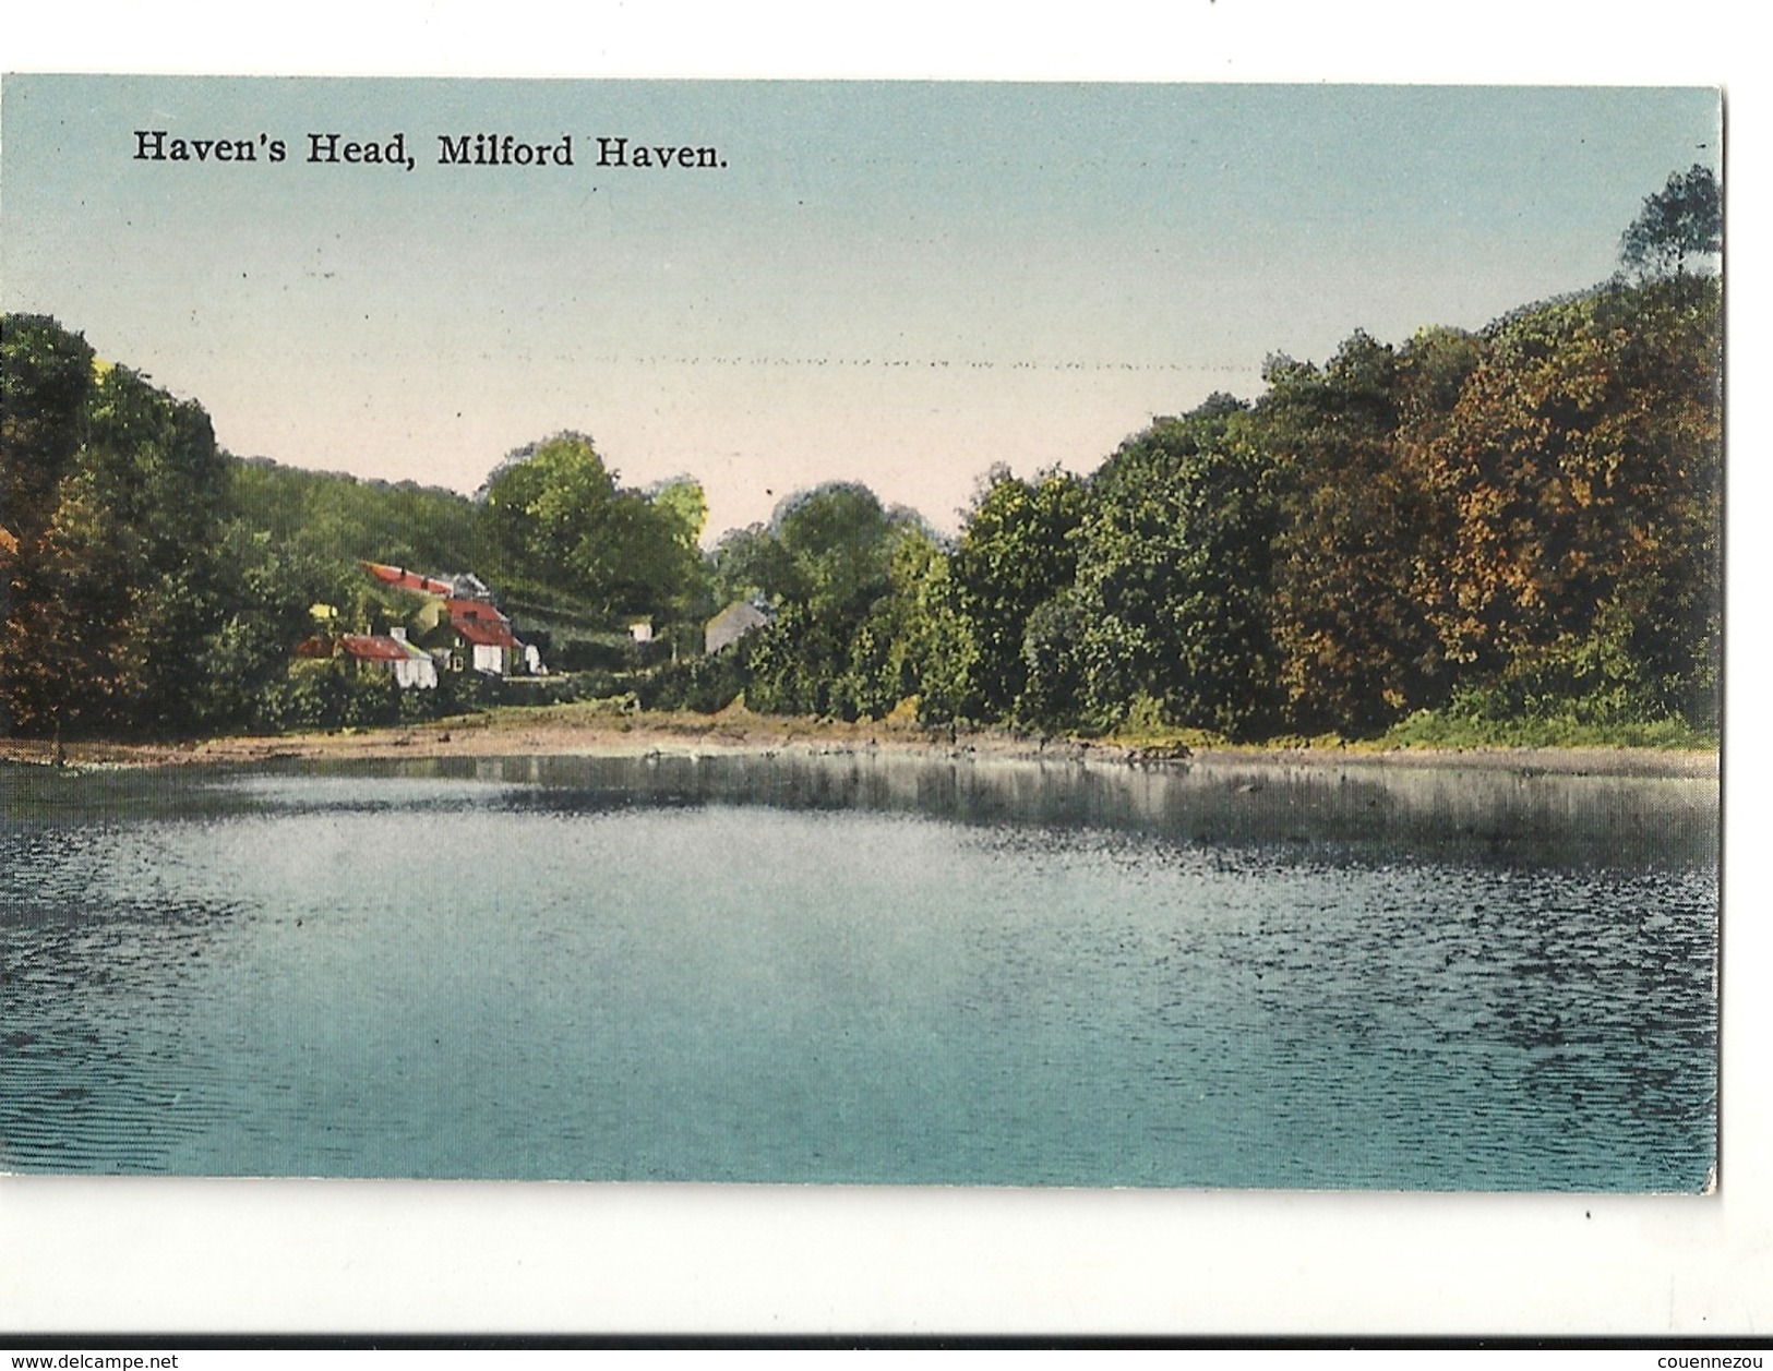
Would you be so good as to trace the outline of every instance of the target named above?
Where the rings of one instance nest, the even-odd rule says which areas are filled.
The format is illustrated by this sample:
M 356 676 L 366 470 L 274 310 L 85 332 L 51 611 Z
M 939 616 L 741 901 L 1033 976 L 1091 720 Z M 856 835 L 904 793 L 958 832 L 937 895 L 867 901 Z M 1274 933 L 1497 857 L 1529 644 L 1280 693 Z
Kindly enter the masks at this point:
M 950 549 L 901 538 L 847 597 L 748 530 L 716 574 L 780 615 L 732 680 L 768 710 L 915 696 L 929 723 L 1043 730 L 1714 728 L 1720 305 L 1674 275 L 1278 358 L 1254 406 L 1158 420 L 1087 480 L 995 469 Z

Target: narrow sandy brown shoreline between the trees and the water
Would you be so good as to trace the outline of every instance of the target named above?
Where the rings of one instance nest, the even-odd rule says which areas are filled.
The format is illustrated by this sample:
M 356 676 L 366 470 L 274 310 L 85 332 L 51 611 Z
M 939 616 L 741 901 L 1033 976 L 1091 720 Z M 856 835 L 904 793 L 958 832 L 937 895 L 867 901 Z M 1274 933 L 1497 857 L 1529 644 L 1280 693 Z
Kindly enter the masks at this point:
M 633 756 L 704 753 L 846 753 L 1073 760 L 1103 765 L 1461 767 L 1560 776 L 1718 776 L 1718 755 L 1652 747 L 1211 747 L 1170 758 L 1113 742 L 1037 739 L 1000 730 L 924 730 L 886 723 L 778 719 L 743 710 L 720 716 L 638 714 L 560 717 L 558 710 L 468 716 L 415 726 L 200 742 L 69 742 L 69 767 L 252 765 L 273 760 L 392 760 L 434 756 Z M 53 744 L 0 739 L 0 762 L 51 765 Z

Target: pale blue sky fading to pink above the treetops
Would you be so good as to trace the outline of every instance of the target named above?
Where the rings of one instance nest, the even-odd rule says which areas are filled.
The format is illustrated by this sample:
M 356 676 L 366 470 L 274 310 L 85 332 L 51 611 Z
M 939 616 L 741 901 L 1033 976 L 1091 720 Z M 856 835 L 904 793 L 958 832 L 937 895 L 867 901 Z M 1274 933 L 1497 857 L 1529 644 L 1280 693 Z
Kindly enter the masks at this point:
M 472 491 L 590 432 L 709 533 L 858 478 L 952 528 L 1264 356 L 1477 328 L 1613 266 L 1702 89 L 7 78 L 4 305 L 202 400 L 223 445 Z M 133 159 L 135 129 L 269 165 Z M 449 168 L 436 135 L 571 168 Z M 413 172 L 310 167 L 404 133 Z M 716 145 L 599 170 L 596 138 Z

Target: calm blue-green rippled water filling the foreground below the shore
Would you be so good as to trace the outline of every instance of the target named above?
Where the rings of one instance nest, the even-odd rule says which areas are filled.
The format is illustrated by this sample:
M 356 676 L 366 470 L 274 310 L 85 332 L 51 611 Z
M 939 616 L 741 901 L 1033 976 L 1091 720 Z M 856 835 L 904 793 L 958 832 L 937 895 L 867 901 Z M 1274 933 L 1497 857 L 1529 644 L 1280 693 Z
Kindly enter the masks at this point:
M 1716 783 L 12 771 L 12 1171 L 1693 1190 Z

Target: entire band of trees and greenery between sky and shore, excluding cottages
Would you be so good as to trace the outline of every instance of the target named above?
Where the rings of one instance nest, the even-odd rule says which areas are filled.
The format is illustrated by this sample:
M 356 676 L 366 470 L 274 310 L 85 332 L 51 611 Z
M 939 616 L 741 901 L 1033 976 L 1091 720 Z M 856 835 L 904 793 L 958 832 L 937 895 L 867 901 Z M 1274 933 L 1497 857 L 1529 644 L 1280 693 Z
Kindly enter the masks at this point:
M 475 570 L 544 659 L 535 703 L 1121 740 L 1714 746 L 1722 639 L 1716 184 L 1670 177 L 1613 280 L 1480 331 L 1269 358 L 1255 399 L 1152 422 L 1089 475 L 993 468 L 952 538 L 865 485 L 700 549 L 693 478 L 628 489 L 589 438 L 473 496 L 222 452 L 207 414 L 4 321 L 0 710 L 20 735 L 374 724 L 516 698 L 293 662 L 371 624 L 360 558 Z M 1090 453 L 1080 453 L 1089 461 Z M 702 624 L 764 620 L 704 655 Z M 656 627 L 638 647 L 629 622 Z

